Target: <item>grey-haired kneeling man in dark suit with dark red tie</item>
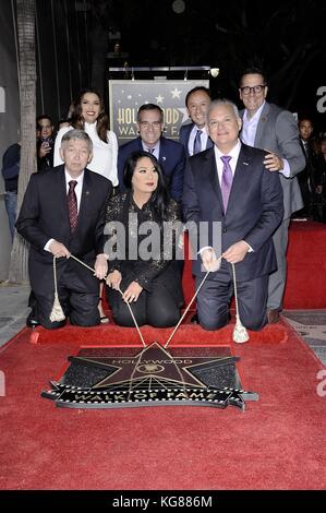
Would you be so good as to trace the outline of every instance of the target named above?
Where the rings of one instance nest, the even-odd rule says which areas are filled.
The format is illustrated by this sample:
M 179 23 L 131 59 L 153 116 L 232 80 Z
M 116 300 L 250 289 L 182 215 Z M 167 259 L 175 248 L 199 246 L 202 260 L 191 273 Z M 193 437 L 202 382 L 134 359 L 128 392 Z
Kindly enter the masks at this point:
M 83 130 L 62 138 L 64 165 L 31 177 L 16 222 L 17 231 L 31 243 L 29 281 L 36 300 L 37 321 L 47 329 L 64 325 L 50 321 L 53 306 L 53 256 L 58 296 L 72 324 L 99 324 L 98 279 L 107 274 L 104 226 L 111 182 L 86 166 L 92 141 Z M 95 275 L 73 254 L 95 267 Z

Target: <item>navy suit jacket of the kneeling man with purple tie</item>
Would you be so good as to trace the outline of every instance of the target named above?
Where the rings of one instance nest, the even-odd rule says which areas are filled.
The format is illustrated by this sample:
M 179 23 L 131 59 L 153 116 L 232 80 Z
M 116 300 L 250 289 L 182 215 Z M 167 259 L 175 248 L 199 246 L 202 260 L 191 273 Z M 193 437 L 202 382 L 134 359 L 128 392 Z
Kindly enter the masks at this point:
M 261 150 L 242 144 L 226 214 L 214 148 L 190 157 L 185 169 L 183 214 L 192 240 L 197 231 L 196 249 L 217 248 L 219 234 L 221 252 L 242 239 L 253 248 L 253 252 L 246 253 L 236 265 L 239 282 L 269 274 L 276 269 L 271 235 L 282 219 L 282 189 L 278 174 L 265 169 L 265 155 Z M 200 240 L 201 222 L 208 226 L 207 240 Z M 201 256 L 197 256 L 193 263 L 195 275 L 203 275 L 201 264 Z M 208 279 L 226 281 L 230 273 L 230 264 L 222 260 L 221 270 L 210 273 Z

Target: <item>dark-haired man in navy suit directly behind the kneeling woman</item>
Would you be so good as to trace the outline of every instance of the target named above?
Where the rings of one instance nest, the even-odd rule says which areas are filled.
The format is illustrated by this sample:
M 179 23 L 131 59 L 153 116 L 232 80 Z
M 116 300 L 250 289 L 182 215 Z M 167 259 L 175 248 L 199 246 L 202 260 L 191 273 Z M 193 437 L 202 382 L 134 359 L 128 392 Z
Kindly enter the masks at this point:
M 123 167 L 126 157 L 132 152 L 145 151 L 157 158 L 162 167 L 171 196 L 176 201 L 180 201 L 183 189 L 185 152 L 182 144 L 162 136 L 162 109 L 154 104 L 142 105 L 137 112 L 137 129 L 140 136 L 119 148 L 118 177 L 120 191 L 125 191 Z

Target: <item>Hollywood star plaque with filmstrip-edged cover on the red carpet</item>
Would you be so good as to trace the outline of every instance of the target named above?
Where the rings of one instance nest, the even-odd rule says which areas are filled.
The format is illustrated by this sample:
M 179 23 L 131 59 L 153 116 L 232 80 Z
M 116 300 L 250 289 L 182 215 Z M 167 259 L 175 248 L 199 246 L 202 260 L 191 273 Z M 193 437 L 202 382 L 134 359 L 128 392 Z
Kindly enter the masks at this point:
M 65 408 L 229 405 L 257 401 L 242 389 L 230 347 L 86 347 L 41 396 Z

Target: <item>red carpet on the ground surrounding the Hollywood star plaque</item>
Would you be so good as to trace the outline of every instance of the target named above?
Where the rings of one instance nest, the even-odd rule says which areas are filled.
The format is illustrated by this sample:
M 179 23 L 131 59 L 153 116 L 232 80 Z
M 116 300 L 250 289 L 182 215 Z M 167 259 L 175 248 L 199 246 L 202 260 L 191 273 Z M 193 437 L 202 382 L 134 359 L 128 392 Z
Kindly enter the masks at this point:
M 145 339 L 166 339 L 147 330 Z M 100 332 L 109 331 L 107 343 L 137 343 L 130 330 L 123 335 L 113 326 L 83 330 L 83 339 L 72 327 L 40 333 L 39 344 L 24 330 L 0 350 L 7 385 L 1 489 L 325 489 L 321 365 L 286 323 L 244 345 L 230 342 L 230 327 L 217 335 L 188 325 L 183 341 L 176 338 L 230 344 L 241 357 L 243 385 L 259 394 L 244 413 L 230 406 L 72 410 L 40 398 L 88 335 L 90 344 L 104 343 Z

